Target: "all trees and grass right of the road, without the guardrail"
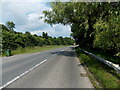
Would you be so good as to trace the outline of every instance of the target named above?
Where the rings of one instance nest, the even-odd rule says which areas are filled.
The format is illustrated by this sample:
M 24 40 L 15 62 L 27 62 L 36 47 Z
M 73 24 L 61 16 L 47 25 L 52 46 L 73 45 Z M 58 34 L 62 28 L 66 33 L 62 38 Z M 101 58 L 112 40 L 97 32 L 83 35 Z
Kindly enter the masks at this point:
M 120 64 L 120 2 L 52 2 L 51 8 L 43 11 L 46 23 L 69 25 L 80 48 Z M 80 50 L 76 52 L 100 87 L 120 88 L 120 74 Z

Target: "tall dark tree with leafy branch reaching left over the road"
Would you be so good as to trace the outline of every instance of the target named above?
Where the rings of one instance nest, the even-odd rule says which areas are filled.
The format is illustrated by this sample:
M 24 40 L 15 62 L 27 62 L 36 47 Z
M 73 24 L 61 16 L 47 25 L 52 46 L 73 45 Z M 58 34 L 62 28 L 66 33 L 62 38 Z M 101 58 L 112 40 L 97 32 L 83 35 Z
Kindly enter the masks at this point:
M 92 46 L 93 25 L 99 15 L 98 3 L 53 2 L 51 7 L 52 11 L 43 11 L 46 17 L 45 22 L 70 25 L 76 43 Z

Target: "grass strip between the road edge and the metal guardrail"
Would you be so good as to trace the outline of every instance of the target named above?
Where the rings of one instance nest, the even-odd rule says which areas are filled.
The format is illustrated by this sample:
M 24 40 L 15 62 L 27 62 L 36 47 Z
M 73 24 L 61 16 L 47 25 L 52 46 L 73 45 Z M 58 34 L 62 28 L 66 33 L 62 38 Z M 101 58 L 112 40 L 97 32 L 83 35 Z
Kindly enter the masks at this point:
M 80 62 L 82 61 L 87 66 L 102 88 L 120 88 L 120 74 L 116 74 L 115 70 L 99 60 L 84 54 L 78 48 L 76 48 L 76 52 Z M 93 85 L 96 87 L 95 83 Z

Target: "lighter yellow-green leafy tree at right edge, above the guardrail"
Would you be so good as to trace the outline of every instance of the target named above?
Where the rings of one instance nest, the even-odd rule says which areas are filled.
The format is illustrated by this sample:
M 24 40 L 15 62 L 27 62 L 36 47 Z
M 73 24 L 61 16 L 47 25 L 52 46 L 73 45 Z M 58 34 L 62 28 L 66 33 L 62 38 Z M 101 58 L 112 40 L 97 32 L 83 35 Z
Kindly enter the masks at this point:
M 105 8 L 106 9 L 106 8 Z M 120 3 L 110 3 L 105 10 L 107 14 L 94 24 L 94 47 L 114 53 L 120 51 Z M 104 13 L 106 13 L 104 12 Z

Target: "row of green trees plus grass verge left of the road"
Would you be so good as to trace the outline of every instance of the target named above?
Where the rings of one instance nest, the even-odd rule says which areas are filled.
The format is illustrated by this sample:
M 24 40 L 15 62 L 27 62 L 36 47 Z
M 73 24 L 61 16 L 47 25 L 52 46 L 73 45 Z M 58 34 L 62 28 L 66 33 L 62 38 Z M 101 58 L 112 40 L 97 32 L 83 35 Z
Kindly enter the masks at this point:
M 14 31 L 15 23 L 12 21 L 8 21 L 5 25 L 1 24 L 0 27 L 2 31 L 0 33 L 2 36 L 2 40 L 0 40 L 2 50 L 0 49 L 0 52 L 2 52 L 3 56 L 7 49 L 11 49 L 12 54 L 22 54 L 74 44 L 74 40 L 70 37 L 51 37 L 47 32 L 42 32 L 41 36 L 32 35 L 28 31 L 25 33 L 16 32 Z

